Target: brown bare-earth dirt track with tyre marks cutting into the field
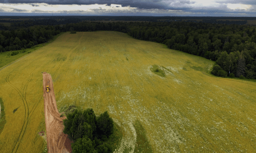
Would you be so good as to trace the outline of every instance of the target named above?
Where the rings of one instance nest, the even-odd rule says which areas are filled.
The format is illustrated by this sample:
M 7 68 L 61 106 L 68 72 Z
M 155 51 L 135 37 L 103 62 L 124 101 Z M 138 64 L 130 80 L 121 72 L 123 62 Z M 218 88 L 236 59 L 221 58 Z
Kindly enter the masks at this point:
M 46 120 L 46 137 L 47 137 L 47 149 L 48 153 L 55 152 L 70 152 L 71 143 L 68 135 L 62 131 L 64 129 L 63 119 L 66 117 L 60 117 L 58 112 L 55 94 L 53 90 L 52 77 L 50 74 L 44 72 L 43 77 L 43 89 L 44 89 L 44 105 L 45 105 L 45 120 Z M 46 92 L 46 86 L 49 86 L 50 92 Z

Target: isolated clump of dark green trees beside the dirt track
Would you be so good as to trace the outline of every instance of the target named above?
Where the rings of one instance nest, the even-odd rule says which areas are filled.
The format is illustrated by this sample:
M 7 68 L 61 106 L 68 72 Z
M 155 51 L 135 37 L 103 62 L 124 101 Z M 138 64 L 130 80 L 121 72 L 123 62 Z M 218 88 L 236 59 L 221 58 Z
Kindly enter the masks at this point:
M 113 152 L 114 122 L 108 112 L 98 117 L 93 109 L 75 110 L 63 120 L 63 133 L 68 134 L 72 143 L 72 152 Z

